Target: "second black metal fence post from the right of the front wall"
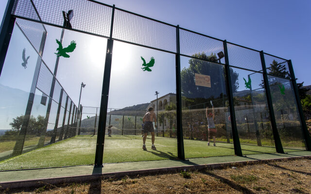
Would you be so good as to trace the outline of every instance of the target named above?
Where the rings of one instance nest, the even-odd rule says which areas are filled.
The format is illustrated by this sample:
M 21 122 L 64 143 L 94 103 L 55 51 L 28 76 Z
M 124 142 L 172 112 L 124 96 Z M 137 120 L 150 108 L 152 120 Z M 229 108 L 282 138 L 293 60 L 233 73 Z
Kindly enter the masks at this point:
M 262 50 L 260 51 L 260 60 L 261 60 L 261 65 L 262 65 L 263 82 L 264 82 L 264 87 L 266 90 L 267 103 L 268 103 L 269 114 L 270 114 L 270 119 L 271 119 L 273 138 L 274 138 L 274 142 L 276 145 L 276 152 L 284 153 L 283 146 L 282 146 L 282 143 L 280 140 L 280 136 L 279 136 L 278 131 L 277 131 L 276 116 L 274 114 L 273 102 L 272 102 L 272 98 L 271 98 L 271 91 L 270 91 L 268 74 L 267 74 L 267 69 L 266 69 L 266 62 L 265 62 Z

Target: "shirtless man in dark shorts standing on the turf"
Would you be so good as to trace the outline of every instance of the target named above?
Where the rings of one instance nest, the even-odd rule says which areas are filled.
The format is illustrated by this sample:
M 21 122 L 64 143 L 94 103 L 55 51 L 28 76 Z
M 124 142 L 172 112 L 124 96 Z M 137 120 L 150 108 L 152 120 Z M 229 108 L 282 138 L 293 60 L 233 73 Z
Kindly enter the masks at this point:
M 148 113 L 146 113 L 144 115 L 144 117 L 142 118 L 142 122 L 144 124 L 144 138 L 143 138 L 143 145 L 142 145 L 142 149 L 143 150 L 147 150 L 146 148 L 146 138 L 148 135 L 148 132 L 151 133 L 151 141 L 152 141 L 152 146 L 151 149 L 156 150 L 155 148 L 155 129 L 154 129 L 154 125 L 153 125 L 153 121 L 155 121 L 155 127 L 156 127 L 156 117 L 155 117 L 155 112 L 154 112 L 154 108 L 149 107 L 148 109 Z

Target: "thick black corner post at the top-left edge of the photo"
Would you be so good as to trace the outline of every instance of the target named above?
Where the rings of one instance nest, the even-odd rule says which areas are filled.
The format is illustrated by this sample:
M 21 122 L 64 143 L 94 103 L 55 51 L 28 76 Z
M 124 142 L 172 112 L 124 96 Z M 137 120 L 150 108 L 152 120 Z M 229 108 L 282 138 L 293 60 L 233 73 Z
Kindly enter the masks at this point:
M 9 48 L 16 19 L 15 17 L 11 16 L 11 13 L 14 9 L 14 2 L 15 0 L 8 0 L 0 27 L 0 75 L 4 65 L 6 52 Z

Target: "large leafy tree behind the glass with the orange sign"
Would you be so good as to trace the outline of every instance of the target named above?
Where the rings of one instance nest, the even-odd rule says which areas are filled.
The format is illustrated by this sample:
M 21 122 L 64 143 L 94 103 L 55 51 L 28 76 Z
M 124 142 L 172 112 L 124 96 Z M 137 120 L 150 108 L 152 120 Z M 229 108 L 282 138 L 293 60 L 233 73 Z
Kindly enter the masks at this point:
M 204 52 L 192 55 L 197 59 L 189 60 L 189 67 L 184 67 L 181 74 L 181 92 L 186 106 L 206 102 L 215 98 L 223 97 L 225 90 L 225 68 L 223 65 L 217 65 L 208 61 L 216 61 L 215 54 L 207 56 Z M 210 76 L 211 87 L 195 85 L 195 74 Z M 239 74 L 230 68 L 232 91 L 236 92 L 239 88 Z M 195 99 L 195 100 L 194 100 Z

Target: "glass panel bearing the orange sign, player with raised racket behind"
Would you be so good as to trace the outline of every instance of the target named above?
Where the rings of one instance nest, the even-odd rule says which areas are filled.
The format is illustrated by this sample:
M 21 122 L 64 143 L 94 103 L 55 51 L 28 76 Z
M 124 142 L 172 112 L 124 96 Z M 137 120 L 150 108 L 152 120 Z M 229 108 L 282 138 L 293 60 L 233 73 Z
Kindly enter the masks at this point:
M 185 157 L 234 155 L 224 66 L 182 57 L 181 92 Z

